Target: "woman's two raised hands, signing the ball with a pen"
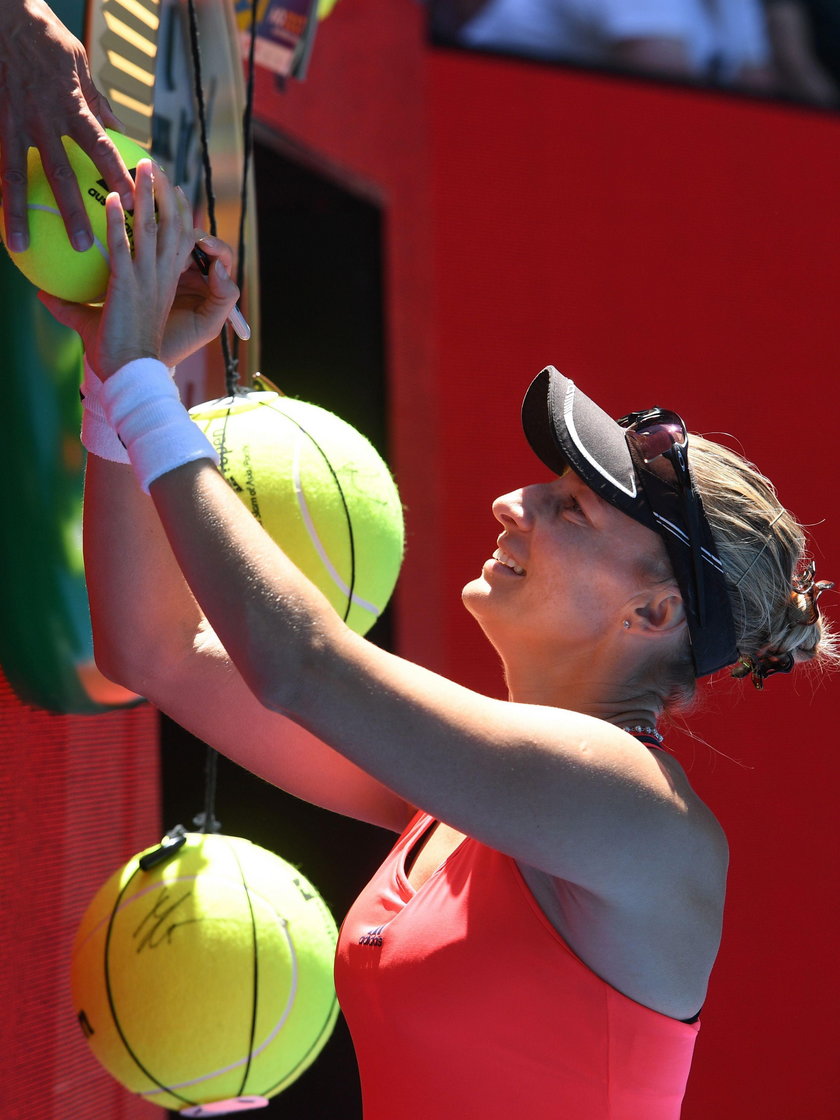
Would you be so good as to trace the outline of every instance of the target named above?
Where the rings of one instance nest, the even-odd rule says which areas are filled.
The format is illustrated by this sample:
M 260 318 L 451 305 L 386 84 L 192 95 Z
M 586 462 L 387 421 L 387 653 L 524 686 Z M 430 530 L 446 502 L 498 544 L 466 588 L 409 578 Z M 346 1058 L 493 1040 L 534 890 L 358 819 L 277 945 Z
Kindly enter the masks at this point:
M 183 192 L 150 160 L 138 165 L 136 195 L 133 258 L 120 199 L 106 200 L 111 279 L 104 306 L 39 293 L 59 323 L 78 332 L 101 377 L 134 357 L 177 365 L 218 335 L 239 298 L 230 246 L 193 228 Z M 206 279 L 190 256 L 197 240 L 213 260 Z

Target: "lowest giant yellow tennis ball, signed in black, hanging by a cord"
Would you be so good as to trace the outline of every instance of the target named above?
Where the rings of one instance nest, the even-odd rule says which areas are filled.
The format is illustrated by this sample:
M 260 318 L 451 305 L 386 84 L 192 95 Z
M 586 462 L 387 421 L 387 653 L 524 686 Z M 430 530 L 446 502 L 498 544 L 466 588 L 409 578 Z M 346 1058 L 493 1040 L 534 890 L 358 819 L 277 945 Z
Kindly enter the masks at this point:
M 149 870 L 144 855 L 104 884 L 76 934 L 73 1001 L 91 1049 L 185 1116 L 258 1108 L 333 1030 L 335 922 L 300 871 L 248 840 L 187 833 Z

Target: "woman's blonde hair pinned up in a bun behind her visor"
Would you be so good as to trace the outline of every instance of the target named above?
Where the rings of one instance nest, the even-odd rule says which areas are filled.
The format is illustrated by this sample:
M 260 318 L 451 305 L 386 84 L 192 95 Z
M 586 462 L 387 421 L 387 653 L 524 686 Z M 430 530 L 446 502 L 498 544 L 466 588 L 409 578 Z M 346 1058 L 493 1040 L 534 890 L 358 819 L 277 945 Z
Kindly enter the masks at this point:
M 815 609 L 827 585 L 814 581 L 805 531 L 773 484 L 743 456 L 701 436 L 690 436 L 689 463 L 725 569 L 740 655 L 731 675 L 752 675 L 760 688 L 768 668 L 808 661 L 836 668 L 837 635 Z M 684 659 L 681 664 L 684 670 Z M 669 706 L 692 693 L 678 671 Z

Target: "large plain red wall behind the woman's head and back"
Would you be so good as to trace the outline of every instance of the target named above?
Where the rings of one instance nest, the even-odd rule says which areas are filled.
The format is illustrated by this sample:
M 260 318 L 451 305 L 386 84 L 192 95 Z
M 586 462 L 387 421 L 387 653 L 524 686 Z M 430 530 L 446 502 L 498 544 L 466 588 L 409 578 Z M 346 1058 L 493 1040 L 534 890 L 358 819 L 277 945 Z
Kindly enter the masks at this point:
M 818 421 L 837 399 L 837 118 L 432 52 L 420 6 L 392 0 L 338 4 L 310 78 L 261 74 L 258 113 L 384 207 L 404 654 L 500 692 L 459 589 L 494 547 L 491 500 L 539 475 L 517 409 L 547 362 L 616 414 L 661 403 L 735 432 L 824 519 L 820 575 L 840 579 Z M 671 735 L 732 847 L 687 1120 L 836 1114 L 836 696 L 716 682 Z

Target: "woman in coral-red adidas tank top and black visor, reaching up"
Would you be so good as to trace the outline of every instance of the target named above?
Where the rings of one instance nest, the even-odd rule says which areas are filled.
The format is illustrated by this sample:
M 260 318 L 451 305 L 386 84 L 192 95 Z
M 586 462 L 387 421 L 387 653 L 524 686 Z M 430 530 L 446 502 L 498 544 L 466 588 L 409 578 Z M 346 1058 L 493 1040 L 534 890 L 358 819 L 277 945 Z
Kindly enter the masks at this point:
M 230 251 L 204 240 L 208 286 L 180 279 L 195 233 L 148 162 L 133 260 L 115 195 L 108 213 L 104 311 L 46 300 L 104 382 L 85 386 L 99 663 L 278 786 L 399 834 L 336 962 L 366 1120 L 673 1120 L 727 844 L 657 721 L 722 668 L 760 684 L 832 656 L 801 526 L 676 414 L 615 421 L 548 367 L 523 423 L 554 477 L 494 503 L 464 589 L 510 700 L 479 696 L 352 633 L 177 400 L 167 365 L 237 297 Z M 123 445 L 130 465 L 106 461 Z

